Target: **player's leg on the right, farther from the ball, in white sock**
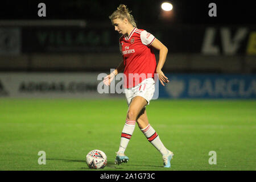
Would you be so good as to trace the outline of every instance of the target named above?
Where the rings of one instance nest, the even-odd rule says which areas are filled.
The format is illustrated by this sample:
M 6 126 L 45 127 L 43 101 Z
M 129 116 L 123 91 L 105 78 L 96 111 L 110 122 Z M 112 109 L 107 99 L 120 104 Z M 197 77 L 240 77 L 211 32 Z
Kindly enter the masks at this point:
M 163 155 L 164 167 L 171 167 L 171 159 L 174 154 L 169 151 L 159 138 L 159 135 L 148 123 L 146 108 L 138 115 L 137 123 L 147 140 Z

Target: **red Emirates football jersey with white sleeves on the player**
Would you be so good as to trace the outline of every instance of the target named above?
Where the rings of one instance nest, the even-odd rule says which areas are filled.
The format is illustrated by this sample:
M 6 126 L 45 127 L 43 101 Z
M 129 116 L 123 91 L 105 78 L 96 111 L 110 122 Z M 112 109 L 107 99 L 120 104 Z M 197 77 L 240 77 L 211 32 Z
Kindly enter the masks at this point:
M 154 35 L 136 27 L 129 37 L 122 35 L 119 39 L 125 65 L 125 88 L 132 88 L 146 78 L 154 78 L 156 60 L 151 47 L 154 40 Z

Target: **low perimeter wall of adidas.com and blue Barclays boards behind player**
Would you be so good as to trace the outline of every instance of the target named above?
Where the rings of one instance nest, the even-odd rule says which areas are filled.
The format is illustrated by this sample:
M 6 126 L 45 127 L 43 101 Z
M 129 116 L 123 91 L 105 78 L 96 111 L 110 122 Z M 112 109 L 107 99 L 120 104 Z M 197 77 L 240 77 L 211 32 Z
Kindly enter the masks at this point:
M 106 75 L 106 74 L 105 74 Z M 155 84 L 157 98 L 256 98 L 256 75 L 175 74 L 167 73 L 170 82 Z M 110 86 L 102 93 L 100 73 L 0 73 L 1 97 L 24 98 L 111 98 L 118 94 Z M 121 80 L 122 81 L 122 80 Z M 157 81 L 157 78 L 156 78 Z

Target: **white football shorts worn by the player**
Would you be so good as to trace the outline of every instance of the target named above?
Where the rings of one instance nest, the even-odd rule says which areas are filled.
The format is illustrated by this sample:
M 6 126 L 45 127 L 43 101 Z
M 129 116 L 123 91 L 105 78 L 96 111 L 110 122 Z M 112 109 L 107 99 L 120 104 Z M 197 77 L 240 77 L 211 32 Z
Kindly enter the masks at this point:
M 125 96 L 128 106 L 131 104 L 131 100 L 136 96 L 141 96 L 147 101 L 147 105 L 154 96 L 155 81 L 154 78 L 146 78 L 133 88 L 125 88 Z

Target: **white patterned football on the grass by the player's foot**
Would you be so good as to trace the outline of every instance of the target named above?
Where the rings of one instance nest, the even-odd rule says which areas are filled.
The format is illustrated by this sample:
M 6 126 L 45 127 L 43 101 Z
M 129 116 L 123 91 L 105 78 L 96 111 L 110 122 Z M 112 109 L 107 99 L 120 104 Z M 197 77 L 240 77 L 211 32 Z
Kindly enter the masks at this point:
M 89 168 L 102 169 L 107 164 L 106 154 L 101 150 L 92 150 L 86 155 L 86 163 Z

